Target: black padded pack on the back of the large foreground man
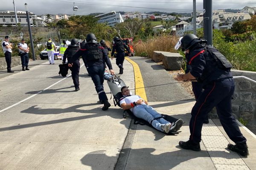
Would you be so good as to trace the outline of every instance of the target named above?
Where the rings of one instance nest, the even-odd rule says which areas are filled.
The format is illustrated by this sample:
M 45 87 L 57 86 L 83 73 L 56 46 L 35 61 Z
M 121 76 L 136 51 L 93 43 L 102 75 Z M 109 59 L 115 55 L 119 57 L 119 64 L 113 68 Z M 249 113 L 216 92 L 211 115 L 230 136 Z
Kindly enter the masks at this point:
M 208 54 L 207 54 L 208 52 Z M 232 64 L 227 60 L 227 58 L 221 54 L 212 45 L 206 45 L 204 50 L 204 57 L 211 62 L 215 62 L 216 66 L 224 71 L 229 71 L 232 68 Z

